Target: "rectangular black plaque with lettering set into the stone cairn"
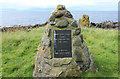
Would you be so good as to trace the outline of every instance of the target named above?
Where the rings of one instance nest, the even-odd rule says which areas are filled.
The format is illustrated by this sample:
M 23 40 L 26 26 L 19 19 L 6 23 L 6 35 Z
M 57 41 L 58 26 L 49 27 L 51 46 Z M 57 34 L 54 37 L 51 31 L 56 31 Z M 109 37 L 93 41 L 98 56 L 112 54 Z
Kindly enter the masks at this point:
M 71 30 L 54 30 L 54 58 L 72 57 Z

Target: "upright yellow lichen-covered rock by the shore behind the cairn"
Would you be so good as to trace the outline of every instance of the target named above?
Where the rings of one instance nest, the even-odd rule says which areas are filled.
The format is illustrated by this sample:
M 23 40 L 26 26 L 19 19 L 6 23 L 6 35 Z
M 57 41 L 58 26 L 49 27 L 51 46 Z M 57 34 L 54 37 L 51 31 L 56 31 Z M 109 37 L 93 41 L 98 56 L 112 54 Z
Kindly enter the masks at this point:
M 82 19 L 79 19 L 79 26 L 91 27 L 91 23 L 88 15 L 83 15 Z

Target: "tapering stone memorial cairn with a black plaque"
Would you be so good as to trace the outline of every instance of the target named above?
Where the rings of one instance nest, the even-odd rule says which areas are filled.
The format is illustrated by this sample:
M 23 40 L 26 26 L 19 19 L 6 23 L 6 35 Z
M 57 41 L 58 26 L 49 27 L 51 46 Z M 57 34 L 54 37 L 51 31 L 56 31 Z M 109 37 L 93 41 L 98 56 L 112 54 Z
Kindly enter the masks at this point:
M 57 6 L 45 28 L 33 77 L 80 77 L 85 72 L 96 71 L 81 28 L 65 6 Z

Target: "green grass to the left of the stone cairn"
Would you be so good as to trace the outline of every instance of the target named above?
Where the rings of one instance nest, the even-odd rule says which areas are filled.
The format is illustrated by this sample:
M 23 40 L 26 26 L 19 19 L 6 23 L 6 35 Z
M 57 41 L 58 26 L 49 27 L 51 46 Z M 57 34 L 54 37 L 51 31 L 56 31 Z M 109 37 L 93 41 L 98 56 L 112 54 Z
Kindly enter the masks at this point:
M 2 35 L 2 76 L 32 77 L 33 64 L 44 28 Z

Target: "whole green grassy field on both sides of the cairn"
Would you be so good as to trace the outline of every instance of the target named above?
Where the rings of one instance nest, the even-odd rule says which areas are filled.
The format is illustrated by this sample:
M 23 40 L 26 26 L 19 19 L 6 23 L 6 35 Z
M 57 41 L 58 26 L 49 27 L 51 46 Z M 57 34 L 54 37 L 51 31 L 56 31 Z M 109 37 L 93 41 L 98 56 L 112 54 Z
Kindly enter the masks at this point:
M 44 30 L 40 27 L 30 32 L 2 34 L 3 77 L 32 77 Z M 82 34 L 98 67 L 97 73 L 86 73 L 83 77 L 118 77 L 118 31 L 82 27 Z

